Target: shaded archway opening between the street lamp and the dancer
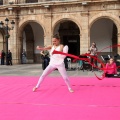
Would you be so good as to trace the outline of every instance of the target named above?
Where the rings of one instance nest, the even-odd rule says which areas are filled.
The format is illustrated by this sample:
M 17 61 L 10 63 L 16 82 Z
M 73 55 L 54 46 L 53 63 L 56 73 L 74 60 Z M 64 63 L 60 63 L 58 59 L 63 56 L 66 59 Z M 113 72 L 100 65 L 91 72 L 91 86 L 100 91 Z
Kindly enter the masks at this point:
M 23 28 L 22 36 L 22 50 L 26 51 L 27 63 L 40 63 L 40 51 L 36 50 L 36 46 L 44 45 L 42 26 L 36 22 L 28 22 Z

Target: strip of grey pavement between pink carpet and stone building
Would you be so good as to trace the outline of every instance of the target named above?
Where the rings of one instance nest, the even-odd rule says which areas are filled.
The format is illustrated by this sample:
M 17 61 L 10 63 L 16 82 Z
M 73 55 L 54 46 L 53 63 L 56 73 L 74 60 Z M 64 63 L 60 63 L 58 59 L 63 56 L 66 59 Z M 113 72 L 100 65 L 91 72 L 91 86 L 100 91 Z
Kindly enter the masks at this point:
M 73 65 L 75 67 L 75 65 Z M 20 65 L 0 65 L 0 76 L 40 76 L 42 74 L 41 64 L 20 64 Z M 94 76 L 92 71 L 72 70 L 67 71 L 69 76 Z M 100 72 L 98 72 L 99 74 Z M 55 70 L 49 76 L 60 76 L 60 73 Z

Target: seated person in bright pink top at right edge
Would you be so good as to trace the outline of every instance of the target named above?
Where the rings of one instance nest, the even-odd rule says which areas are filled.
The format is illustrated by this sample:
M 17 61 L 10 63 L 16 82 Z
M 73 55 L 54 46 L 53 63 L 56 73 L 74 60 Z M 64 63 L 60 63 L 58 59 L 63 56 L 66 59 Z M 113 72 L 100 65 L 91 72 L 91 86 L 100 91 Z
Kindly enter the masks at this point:
M 117 75 L 117 67 L 114 59 L 110 58 L 106 64 L 105 77 L 114 77 L 114 75 Z

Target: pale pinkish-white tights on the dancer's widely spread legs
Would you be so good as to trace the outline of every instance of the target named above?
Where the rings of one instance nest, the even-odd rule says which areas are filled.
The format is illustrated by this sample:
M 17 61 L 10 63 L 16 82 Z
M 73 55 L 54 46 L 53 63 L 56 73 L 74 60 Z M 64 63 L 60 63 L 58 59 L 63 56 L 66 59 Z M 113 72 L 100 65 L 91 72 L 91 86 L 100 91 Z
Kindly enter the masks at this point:
M 48 65 L 47 68 L 43 71 L 42 75 L 40 76 L 38 83 L 36 85 L 36 88 L 38 88 L 40 86 L 40 84 L 42 83 L 42 81 L 44 80 L 44 78 L 50 74 L 52 71 L 54 71 L 55 69 L 58 69 L 58 71 L 60 72 L 61 76 L 63 77 L 68 89 L 71 89 L 71 85 L 70 85 L 70 81 L 67 75 L 67 72 L 65 70 L 65 65 L 64 63 L 60 64 L 60 65 Z

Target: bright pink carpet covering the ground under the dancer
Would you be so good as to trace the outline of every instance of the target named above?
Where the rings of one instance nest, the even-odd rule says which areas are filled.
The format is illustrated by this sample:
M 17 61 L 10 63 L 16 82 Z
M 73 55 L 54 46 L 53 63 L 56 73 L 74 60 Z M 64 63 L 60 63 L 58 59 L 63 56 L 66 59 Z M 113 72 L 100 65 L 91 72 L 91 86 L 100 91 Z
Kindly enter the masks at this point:
M 120 78 L 0 77 L 0 120 L 120 120 Z

